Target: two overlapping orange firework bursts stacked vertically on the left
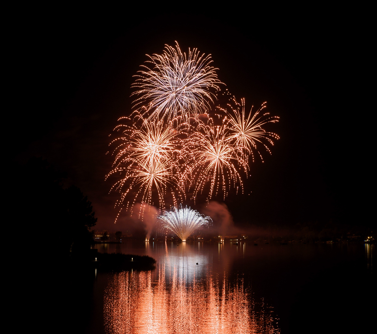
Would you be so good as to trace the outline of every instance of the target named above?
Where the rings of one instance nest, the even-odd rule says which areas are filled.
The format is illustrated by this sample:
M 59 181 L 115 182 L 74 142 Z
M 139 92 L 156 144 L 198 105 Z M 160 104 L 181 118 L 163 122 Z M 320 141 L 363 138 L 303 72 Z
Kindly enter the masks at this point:
M 132 123 L 128 117 L 119 120 Z M 127 204 L 128 208 L 136 201 L 154 204 L 158 198 L 159 206 L 163 208 L 167 195 L 173 197 L 173 203 L 176 203 L 176 197 L 182 199 L 177 131 L 158 120 L 147 121 L 137 113 L 131 125 L 121 124 L 114 130 L 120 131 L 122 136 L 110 143 L 110 146 L 115 146 L 115 159 L 106 178 L 120 175 L 120 180 L 110 189 L 121 193 L 116 204 Z M 132 201 L 126 202 L 126 197 L 130 196 Z

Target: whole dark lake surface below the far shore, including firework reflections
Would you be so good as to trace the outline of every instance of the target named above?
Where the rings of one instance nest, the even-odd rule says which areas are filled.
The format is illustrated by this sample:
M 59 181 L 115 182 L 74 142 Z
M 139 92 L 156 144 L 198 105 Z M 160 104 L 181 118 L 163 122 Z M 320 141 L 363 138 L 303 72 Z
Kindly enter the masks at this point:
M 72 301 L 60 320 L 72 332 L 336 333 L 374 326 L 374 245 L 128 241 L 97 248 L 152 256 L 156 269 L 72 274 L 60 296 Z

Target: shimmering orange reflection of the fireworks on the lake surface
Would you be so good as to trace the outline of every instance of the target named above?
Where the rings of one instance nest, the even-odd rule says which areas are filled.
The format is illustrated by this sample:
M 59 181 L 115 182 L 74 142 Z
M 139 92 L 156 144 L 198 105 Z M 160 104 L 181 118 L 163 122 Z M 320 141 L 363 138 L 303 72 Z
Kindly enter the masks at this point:
M 104 293 L 106 332 L 280 332 L 272 308 L 253 299 L 242 276 L 230 279 L 225 271 L 212 275 L 205 265 L 188 270 L 185 256 L 179 259 L 166 252 L 166 261 L 154 271 L 109 276 Z

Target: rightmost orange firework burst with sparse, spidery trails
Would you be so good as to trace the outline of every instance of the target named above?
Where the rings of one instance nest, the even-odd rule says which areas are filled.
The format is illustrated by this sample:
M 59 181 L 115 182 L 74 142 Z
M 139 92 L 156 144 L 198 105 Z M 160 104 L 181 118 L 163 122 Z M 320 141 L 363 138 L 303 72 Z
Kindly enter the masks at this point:
M 258 143 L 264 146 L 271 154 L 265 142 L 274 145 L 273 139 L 279 139 L 276 133 L 268 132 L 262 128 L 262 126 L 267 123 L 279 122 L 279 117 L 270 116 L 269 113 L 262 113 L 264 108 L 266 108 L 266 103 L 267 102 L 264 102 L 255 114 L 252 114 L 251 108 L 247 117 L 245 116 L 245 99 L 241 100 L 241 105 L 236 104 L 236 108 L 231 108 L 231 113 L 227 112 L 230 130 L 228 140 L 234 143 L 241 153 L 246 155 L 250 154 L 253 161 L 253 151 L 257 151 L 263 161 L 262 154 L 258 150 Z M 241 113 L 239 111 L 240 107 L 242 107 Z

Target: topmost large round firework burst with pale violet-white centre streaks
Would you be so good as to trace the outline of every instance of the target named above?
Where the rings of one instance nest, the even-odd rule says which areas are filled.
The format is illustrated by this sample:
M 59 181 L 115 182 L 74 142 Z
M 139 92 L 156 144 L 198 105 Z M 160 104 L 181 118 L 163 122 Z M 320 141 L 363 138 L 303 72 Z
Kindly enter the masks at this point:
M 166 45 L 162 55 L 147 56 L 151 69 L 143 66 L 132 85 L 135 106 L 148 105 L 151 117 L 166 119 L 187 120 L 207 110 L 221 84 L 210 55 L 200 55 L 198 49 L 186 55 L 176 42 L 175 48 Z

